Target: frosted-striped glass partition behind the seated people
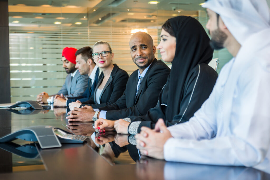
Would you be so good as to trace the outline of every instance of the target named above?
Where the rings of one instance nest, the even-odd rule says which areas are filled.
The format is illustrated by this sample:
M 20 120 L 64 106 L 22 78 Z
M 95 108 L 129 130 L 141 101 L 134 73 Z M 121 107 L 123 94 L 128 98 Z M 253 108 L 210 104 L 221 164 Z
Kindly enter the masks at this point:
M 160 41 L 163 23 L 174 16 L 196 18 L 205 27 L 203 0 L 67 0 L 9 1 L 11 102 L 35 100 L 40 92 L 56 94 L 65 82 L 62 49 L 110 43 L 114 63 L 131 74 L 137 69 L 130 57 L 134 32 L 149 33 Z M 159 51 L 156 58 L 161 59 Z M 227 50 L 215 51 L 218 67 L 231 59 Z M 168 64 L 168 63 L 167 63 Z

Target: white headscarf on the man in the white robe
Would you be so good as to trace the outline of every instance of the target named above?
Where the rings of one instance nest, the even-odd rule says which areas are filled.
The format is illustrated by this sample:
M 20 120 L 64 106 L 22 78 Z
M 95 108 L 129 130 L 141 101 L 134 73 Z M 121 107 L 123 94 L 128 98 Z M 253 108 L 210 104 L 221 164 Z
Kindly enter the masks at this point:
M 270 11 L 265 0 L 208 0 L 203 7 L 218 13 L 241 45 L 252 34 L 270 28 Z

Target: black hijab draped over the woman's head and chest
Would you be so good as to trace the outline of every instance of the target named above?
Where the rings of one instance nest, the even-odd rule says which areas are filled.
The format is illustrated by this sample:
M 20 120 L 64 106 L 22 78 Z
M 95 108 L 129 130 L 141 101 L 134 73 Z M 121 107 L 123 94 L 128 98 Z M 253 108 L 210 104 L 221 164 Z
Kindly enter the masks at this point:
M 173 120 L 173 117 L 180 113 L 188 74 L 198 64 L 208 64 L 213 55 L 210 39 L 196 19 L 177 16 L 169 21 L 176 36 L 176 52 L 167 82 L 169 88 L 165 120 Z

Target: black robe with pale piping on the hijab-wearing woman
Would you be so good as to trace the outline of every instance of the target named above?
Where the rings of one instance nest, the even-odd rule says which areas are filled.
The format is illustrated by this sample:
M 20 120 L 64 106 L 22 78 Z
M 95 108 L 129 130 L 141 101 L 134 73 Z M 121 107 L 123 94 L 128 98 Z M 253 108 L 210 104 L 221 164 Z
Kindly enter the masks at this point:
M 168 104 L 168 94 L 170 93 L 168 85 L 170 78 L 168 78 L 166 85 L 159 95 L 159 101 L 156 107 L 151 108 L 144 116 L 130 116 L 129 118 L 131 122 L 141 121 L 137 129 L 138 133 L 141 132 L 142 126 L 154 129 L 159 118 L 164 119 L 166 126 L 187 122 L 209 97 L 217 77 L 217 72 L 205 63 L 201 63 L 193 68 L 185 80 L 184 98 L 179 102 L 180 112 L 174 115 L 173 119 L 166 119 L 165 114 Z

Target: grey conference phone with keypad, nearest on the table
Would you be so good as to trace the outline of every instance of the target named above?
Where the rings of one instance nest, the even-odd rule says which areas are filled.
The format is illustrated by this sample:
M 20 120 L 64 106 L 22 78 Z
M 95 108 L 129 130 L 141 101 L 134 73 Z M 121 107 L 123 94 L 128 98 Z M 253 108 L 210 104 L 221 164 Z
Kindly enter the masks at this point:
M 83 143 L 88 137 L 76 136 L 53 126 L 31 126 L 0 138 L 0 143 L 15 139 L 38 141 L 41 148 L 61 147 L 61 143 Z

